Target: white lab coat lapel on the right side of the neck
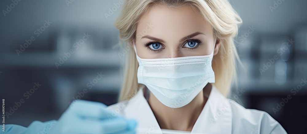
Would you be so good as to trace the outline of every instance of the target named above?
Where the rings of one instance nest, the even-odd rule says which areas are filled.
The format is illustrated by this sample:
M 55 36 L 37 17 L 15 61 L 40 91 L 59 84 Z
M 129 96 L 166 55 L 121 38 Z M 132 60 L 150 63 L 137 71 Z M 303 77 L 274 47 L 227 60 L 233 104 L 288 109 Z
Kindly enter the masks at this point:
M 200 113 L 191 134 L 231 134 L 232 112 L 230 103 L 215 86 Z

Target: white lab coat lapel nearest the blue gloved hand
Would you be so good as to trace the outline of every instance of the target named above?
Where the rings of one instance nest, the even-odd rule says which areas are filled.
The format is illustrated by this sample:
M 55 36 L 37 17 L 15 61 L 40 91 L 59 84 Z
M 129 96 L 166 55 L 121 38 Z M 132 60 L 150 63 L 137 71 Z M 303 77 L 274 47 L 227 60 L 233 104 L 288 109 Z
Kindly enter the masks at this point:
M 140 134 L 162 134 L 161 128 L 143 94 L 141 86 L 138 93 L 130 99 L 126 108 L 125 116 L 138 121 L 136 128 Z

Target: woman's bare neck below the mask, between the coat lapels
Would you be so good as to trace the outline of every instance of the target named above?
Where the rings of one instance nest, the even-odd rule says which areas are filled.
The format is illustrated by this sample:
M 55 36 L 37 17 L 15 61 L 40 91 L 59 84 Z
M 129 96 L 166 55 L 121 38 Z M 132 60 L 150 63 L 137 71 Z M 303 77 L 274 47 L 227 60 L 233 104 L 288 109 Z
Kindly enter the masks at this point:
M 208 83 L 189 104 L 181 108 L 167 107 L 150 93 L 148 103 L 160 128 L 192 131 L 195 122 L 208 100 L 211 88 L 211 84 Z

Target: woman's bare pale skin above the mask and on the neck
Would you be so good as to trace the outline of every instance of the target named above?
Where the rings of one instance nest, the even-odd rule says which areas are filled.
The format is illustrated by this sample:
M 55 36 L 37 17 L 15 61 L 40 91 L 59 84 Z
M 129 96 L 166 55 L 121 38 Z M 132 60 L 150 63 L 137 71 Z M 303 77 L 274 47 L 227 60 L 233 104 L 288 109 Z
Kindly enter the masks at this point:
M 153 25 L 151 29 L 148 24 Z M 142 31 L 146 27 L 144 34 Z M 143 59 L 209 55 L 215 41 L 212 27 L 189 7 L 153 7 L 140 19 L 136 35 L 142 35 L 136 37 L 135 46 L 138 56 Z M 217 38 L 214 56 L 220 45 Z M 176 109 L 163 105 L 150 93 L 148 103 L 160 128 L 191 131 L 208 100 L 211 87 L 207 84 L 189 104 Z

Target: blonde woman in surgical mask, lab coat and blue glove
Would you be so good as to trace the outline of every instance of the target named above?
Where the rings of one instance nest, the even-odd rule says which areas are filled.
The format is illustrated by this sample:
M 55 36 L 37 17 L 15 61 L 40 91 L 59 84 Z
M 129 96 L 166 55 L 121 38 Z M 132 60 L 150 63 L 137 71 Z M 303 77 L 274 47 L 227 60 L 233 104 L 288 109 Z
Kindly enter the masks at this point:
M 75 101 L 58 121 L 8 125 L 6 131 L 286 133 L 267 113 L 226 98 L 235 81 L 233 38 L 241 23 L 227 0 L 127 0 L 115 23 L 121 47 L 130 49 L 120 102 Z

